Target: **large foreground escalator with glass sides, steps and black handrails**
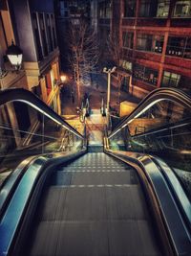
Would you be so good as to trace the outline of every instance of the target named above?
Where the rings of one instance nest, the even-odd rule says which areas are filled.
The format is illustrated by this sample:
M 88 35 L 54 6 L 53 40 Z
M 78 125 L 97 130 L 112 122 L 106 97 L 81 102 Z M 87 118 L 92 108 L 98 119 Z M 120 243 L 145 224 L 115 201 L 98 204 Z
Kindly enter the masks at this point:
M 18 101 L 38 121 L 34 131 L 5 122 Z M 3 92 L 0 137 L 10 148 L 3 144 L 0 160 L 10 175 L 0 190 L 0 255 L 190 255 L 189 191 L 176 173 L 190 172 L 189 140 L 179 149 L 190 134 L 190 103 L 176 90 L 157 90 L 105 130 L 104 152 L 88 152 L 86 134 L 30 92 Z

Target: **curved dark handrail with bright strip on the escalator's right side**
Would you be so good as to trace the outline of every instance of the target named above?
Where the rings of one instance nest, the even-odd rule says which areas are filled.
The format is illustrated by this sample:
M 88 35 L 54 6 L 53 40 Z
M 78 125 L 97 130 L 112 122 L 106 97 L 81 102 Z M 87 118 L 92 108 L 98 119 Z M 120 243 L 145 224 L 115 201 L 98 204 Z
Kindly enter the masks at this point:
M 170 100 L 191 109 L 191 98 L 184 92 L 175 88 L 159 88 L 149 93 L 133 110 L 133 112 L 124 118 L 110 134 L 109 138 L 113 137 L 117 132 L 127 125 L 132 119 L 143 112 L 149 105 L 154 105 L 159 100 Z

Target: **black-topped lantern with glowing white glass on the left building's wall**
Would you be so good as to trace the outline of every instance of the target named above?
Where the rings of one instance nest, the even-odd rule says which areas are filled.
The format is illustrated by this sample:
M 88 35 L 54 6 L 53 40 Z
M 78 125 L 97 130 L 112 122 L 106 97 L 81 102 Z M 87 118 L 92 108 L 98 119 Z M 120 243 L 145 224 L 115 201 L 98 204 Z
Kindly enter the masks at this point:
M 3 88 L 3 82 L 2 79 L 5 78 L 8 74 L 9 71 L 13 72 L 18 70 L 21 67 L 22 59 L 23 59 L 23 51 L 13 43 L 11 42 L 11 46 L 8 47 L 8 50 L 6 51 L 6 55 L 9 58 L 11 65 L 14 66 L 14 69 L 4 69 L 2 66 L 0 66 L 0 85 L 1 85 L 1 90 Z

